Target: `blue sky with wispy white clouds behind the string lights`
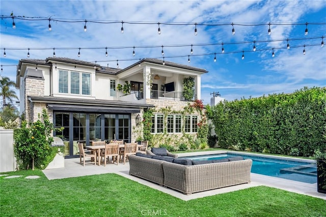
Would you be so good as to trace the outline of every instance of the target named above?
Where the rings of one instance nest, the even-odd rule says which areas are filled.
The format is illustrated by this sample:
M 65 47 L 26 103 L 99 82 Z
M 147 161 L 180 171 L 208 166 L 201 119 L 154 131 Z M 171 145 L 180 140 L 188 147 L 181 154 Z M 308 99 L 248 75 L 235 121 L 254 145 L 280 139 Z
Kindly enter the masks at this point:
M 66 20 L 135 21 L 225 24 L 160 25 L 124 23 L 98 24 L 85 22 L 51 22 L 1 19 L 0 62 L 1 76 L 16 80 L 16 67 L 20 59 L 51 57 L 52 49 L 78 47 L 139 47 L 146 45 L 195 45 L 193 55 L 190 46 L 164 47 L 166 61 L 199 67 L 209 71 L 202 76 L 202 99 L 210 102 L 212 92 L 220 92 L 231 101 L 240 98 L 259 97 L 273 93 L 292 93 L 303 87 L 326 86 L 326 46 L 321 47 L 326 36 L 326 1 L 1 1 L 1 15 L 45 17 Z M 232 25 L 235 34 L 232 35 Z M 268 23 L 271 34 L 267 34 Z M 305 36 L 306 25 L 309 34 Z M 255 25 L 252 24 L 264 24 Z M 283 25 L 280 25 L 283 24 Z M 286 24 L 286 25 L 284 25 Z M 316 38 L 316 39 L 307 39 Z M 286 49 L 290 39 L 290 49 Z M 302 40 L 292 40 L 302 39 Z M 280 40 L 280 41 L 278 41 Z M 253 43 L 258 41 L 257 43 Z M 263 42 L 266 41 L 266 42 Z M 323 39 L 326 42 L 326 38 Z M 222 45 L 225 53 L 222 53 Z M 240 43 L 237 43 L 240 42 Z M 249 43 L 242 43 L 249 42 Z M 201 44 L 201 45 L 200 45 Z M 215 44 L 204 46 L 202 44 Z M 318 46 L 306 46 L 319 44 Z M 253 46 L 257 50 L 253 51 Z M 297 46 L 297 47 L 295 47 Z M 7 56 L 3 56 L 6 48 Z M 25 49 L 13 49 L 25 48 Z M 39 48 L 39 49 L 35 49 Z M 275 48 L 272 50 L 272 48 Z M 282 48 L 282 49 L 279 49 Z M 306 55 L 303 55 L 303 49 Z M 116 67 L 116 60 L 161 58 L 161 47 L 108 49 L 82 49 L 77 57 L 76 49 L 57 49 L 56 57 L 66 57 Z M 241 59 L 242 51 L 244 59 Z M 275 52 L 275 57 L 271 56 Z M 207 55 L 207 54 L 211 55 Z M 213 61 L 216 53 L 216 62 Z M 191 62 L 188 63 L 188 57 Z M 169 58 L 172 56 L 186 56 Z M 112 62 L 105 62 L 112 61 Z M 119 61 L 119 67 L 127 67 L 136 61 Z M 13 65 L 13 66 L 8 66 Z

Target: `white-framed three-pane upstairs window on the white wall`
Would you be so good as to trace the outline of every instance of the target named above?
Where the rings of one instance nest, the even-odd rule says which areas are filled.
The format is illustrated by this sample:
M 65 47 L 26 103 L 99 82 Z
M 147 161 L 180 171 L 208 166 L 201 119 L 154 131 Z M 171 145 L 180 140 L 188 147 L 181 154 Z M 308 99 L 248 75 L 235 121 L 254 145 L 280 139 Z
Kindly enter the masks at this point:
M 80 75 L 82 78 L 80 78 Z M 91 95 L 90 73 L 59 70 L 59 93 L 80 95 L 80 90 L 82 90 L 82 95 Z

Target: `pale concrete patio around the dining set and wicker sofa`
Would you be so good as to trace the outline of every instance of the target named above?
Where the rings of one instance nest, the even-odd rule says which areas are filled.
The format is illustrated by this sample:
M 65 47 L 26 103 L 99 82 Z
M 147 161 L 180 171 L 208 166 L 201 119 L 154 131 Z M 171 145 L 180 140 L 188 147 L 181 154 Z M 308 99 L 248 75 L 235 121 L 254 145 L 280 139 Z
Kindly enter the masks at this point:
M 221 153 L 220 151 L 209 151 L 209 153 L 201 152 L 202 154 L 215 154 L 215 153 Z M 182 153 L 178 154 L 179 156 L 189 156 L 189 153 Z M 78 177 L 78 176 L 87 176 L 87 175 L 98 175 L 98 174 L 105 174 L 105 173 L 116 173 L 118 175 L 121 175 L 123 177 L 126 177 L 128 179 L 137 181 L 141 184 L 144 184 L 146 186 L 152 187 L 154 189 L 157 189 L 158 191 L 165 192 L 167 194 L 170 194 L 174 197 L 177 197 L 182 200 L 192 200 L 196 198 L 202 198 L 206 196 L 212 196 L 217 194 L 223 194 L 228 192 L 237 191 L 239 189 L 259 186 L 259 185 L 265 185 L 269 187 L 276 187 L 280 189 L 284 189 L 285 191 L 289 192 L 295 192 L 298 194 L 303 195 L 309 195 L 311 197 L 321 198 L 323 200 L 326 200 L 326 195 L 321 194 L 317 192 L 317 183 L 309 184 L 304 182 L 298 182 L 298 181 L 292 181 L 288 179 L 282 179 L 282 178 L 275 178 L 265 175 L 259 175 L 255 173 L 251 173 L 251 182 L 247 184 L 240 184 L 230 187 L 223 187 L 219 189 L 214 189 L 211 191 L 205 191 L 205 192 L 199 192 L 194 193 L 192 195 L 184 195 L 180 192 L 174 191 L 173 189 L 159 186 L 158 184 L 146 181 L 144 179 L 130 176 L 129 175 L 129 163 L 126 162 L 126 164 L 108 164 L 106 167 L 103 165 L 101 166 L 94 166 L 93 164 L 88 164 L 85 167 L 80 165 L 79 158 L 70 158 L 65 159 L 65 168 L 59 168 L 59 169 L 49 169 L 49 170 L 43 170 L 43 173 L 45 176 L 51 180 L 51 179 L 63 179 L 63 178 L 70 178 L 70 177 Z

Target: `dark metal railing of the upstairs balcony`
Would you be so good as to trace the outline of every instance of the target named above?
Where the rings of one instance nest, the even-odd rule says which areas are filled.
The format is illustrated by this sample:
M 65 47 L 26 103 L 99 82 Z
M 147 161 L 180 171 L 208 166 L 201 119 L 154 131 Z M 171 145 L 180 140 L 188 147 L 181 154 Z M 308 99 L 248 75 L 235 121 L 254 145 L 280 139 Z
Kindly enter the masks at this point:
M 134 94 L 137 99 L 144 98 L 143 92 L 134 91 Z M 173 100 L 180 100 L 180 101 L 193 101 L 197 99 L 197 95 L 195 94 L 191 100 L 185 100 L 182 95 L 182 92 L 177 92 L 177 91 L 165 92 L 165 91 L 151 90 L 151 99 L 173 99 Z

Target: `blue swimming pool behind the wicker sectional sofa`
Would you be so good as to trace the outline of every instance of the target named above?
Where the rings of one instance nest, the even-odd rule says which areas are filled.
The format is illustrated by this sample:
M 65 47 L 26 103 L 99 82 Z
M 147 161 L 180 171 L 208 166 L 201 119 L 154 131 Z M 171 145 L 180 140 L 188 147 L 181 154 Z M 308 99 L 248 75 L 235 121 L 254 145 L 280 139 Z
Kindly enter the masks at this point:
M 287 158 L 266 157 L 261 155 L 246 155 L 246 154 L 212 154 L 201 156 L 188 156 L 192 160 L 212 160 L 222 159 L 226 157 L 242 156 L 244 159 L 252 159 L 252 173 L 261 175 L 273 176 L 283 179 L 290 179 L 305 183 L 317 182 L 317 167 L 314 162 L 309 160 L 295 160 Z

